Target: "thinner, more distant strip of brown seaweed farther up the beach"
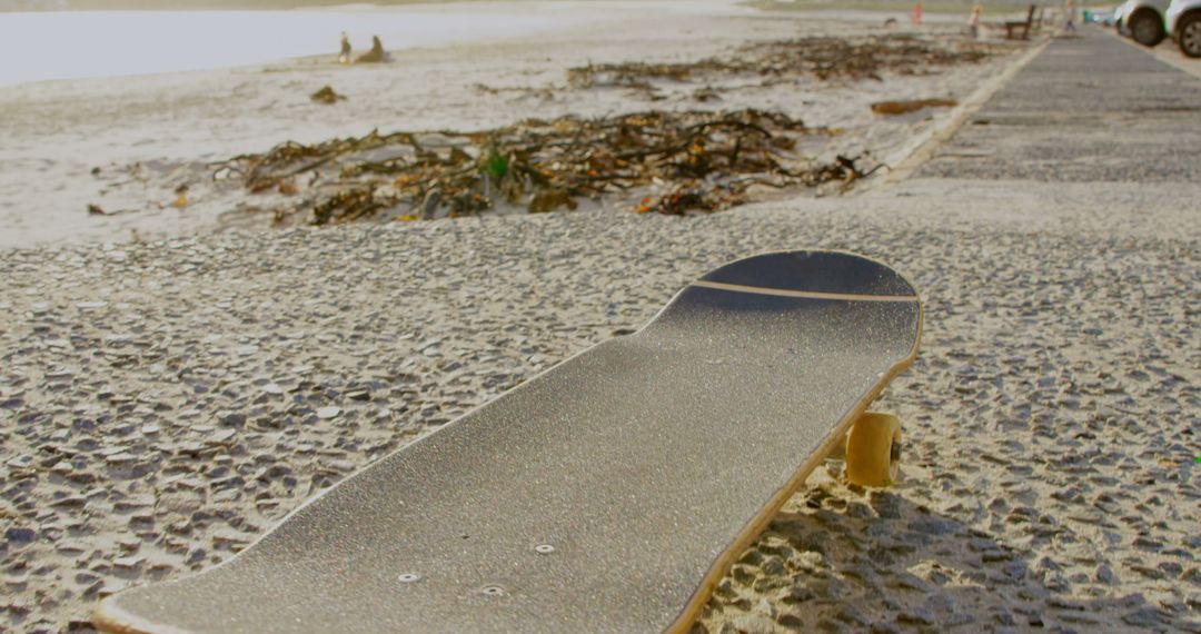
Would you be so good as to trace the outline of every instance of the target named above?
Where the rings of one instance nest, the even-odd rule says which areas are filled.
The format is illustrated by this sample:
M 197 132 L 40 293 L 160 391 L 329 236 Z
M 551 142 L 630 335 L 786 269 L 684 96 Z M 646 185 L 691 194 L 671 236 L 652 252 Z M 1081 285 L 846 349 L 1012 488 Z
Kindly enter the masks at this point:
M 915 74 L 937 66 L 974 64 L 994 53 L 974 41 L 931 41 L 913 35 L 866 37 L 802 37 L 755 42 L 728 58 L 647 64 L 590 64 L 567 71 L 573 88 L 629 88 L 653 90 L 652 82 L 713 80 L 721 76 L 758 74 L 770 84 L 812 76 L 821 80 L 882 79 L 884 72 Z

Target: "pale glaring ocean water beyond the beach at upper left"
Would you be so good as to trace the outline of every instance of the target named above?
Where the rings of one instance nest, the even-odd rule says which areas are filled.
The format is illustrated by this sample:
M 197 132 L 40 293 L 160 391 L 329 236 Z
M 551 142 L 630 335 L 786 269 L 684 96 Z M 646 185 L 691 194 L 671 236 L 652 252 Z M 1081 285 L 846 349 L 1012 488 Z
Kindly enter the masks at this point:
M 328 53 L 341 31 L 355 54 L 519 36 L 561 16 L 486 12 L 103 11 L 0 13 L 0 86 L 263 64 Z

